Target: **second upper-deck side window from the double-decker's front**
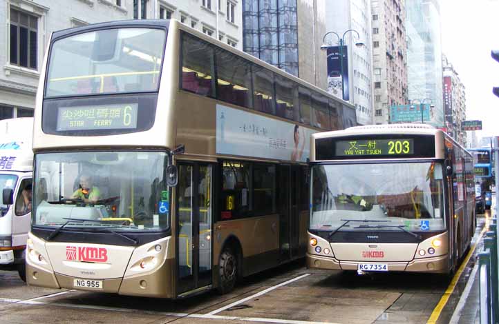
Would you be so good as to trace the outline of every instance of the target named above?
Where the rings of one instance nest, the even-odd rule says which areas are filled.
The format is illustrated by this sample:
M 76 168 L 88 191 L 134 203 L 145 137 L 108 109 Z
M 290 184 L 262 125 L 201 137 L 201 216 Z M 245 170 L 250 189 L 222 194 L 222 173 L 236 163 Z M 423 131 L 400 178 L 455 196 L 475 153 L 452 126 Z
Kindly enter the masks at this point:
M 216 98 L 218 100 L 252 108 L 251 63 L 236 55 L 216 49 Z

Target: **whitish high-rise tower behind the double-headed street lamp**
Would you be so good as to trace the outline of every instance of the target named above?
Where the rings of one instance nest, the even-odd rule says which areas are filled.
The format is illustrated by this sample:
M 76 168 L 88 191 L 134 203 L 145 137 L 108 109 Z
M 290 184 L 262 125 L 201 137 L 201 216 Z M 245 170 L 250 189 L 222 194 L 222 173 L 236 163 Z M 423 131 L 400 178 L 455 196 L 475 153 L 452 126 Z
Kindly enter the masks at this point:
M 326 30 L 335 32 L 328 34 L 326 44 L 338 46 L 343 39 L 347 66 L 344 67 L 351 82 L 348 82 L 348 101 L 355 105 L 357 123 L 368 125 L 373 123 L 373 60 L 371 34 L 379 34 L 379 28 L 371 26 L 370 0 L 335 0 L 326 3 Z M 346 32 L 355 30 L 356 32 Z M 346 34 L 345 34 L 346 32 Z M 343 38 L 344 34 L 344 38 Z M 357 46 L 358 41 L 364 45 Z M 346 50 L 345 50 L 346 49 Z M 341 92 L 339 93 L 341 97 Z

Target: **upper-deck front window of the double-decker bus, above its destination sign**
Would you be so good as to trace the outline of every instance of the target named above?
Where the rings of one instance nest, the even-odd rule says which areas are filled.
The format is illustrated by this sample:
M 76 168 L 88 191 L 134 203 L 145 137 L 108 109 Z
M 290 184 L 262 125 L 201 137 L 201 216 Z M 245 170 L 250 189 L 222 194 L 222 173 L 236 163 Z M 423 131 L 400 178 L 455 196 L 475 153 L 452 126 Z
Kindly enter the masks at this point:
M 160 29 L 121 28 L 57 40 L 46 97 L 157 91 L 166 38 Z

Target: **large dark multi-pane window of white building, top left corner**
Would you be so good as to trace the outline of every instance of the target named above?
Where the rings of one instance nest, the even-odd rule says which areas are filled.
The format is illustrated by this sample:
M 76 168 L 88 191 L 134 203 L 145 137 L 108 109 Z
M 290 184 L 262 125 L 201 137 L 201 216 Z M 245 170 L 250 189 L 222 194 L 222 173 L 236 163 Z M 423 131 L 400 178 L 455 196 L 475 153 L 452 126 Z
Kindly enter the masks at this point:
M 10 8 L 10 64 L 37 69 L 38 18 Z

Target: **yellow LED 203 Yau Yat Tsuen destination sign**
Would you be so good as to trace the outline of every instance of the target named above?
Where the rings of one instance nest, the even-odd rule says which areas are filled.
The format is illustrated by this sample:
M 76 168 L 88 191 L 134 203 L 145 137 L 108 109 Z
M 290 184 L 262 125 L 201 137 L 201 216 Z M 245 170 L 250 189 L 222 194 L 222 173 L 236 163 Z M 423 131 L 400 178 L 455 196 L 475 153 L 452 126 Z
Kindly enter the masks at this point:
M 336 156 L 396 156 L 414 154 L 413 139 L 351 139 L 335 142 Z

